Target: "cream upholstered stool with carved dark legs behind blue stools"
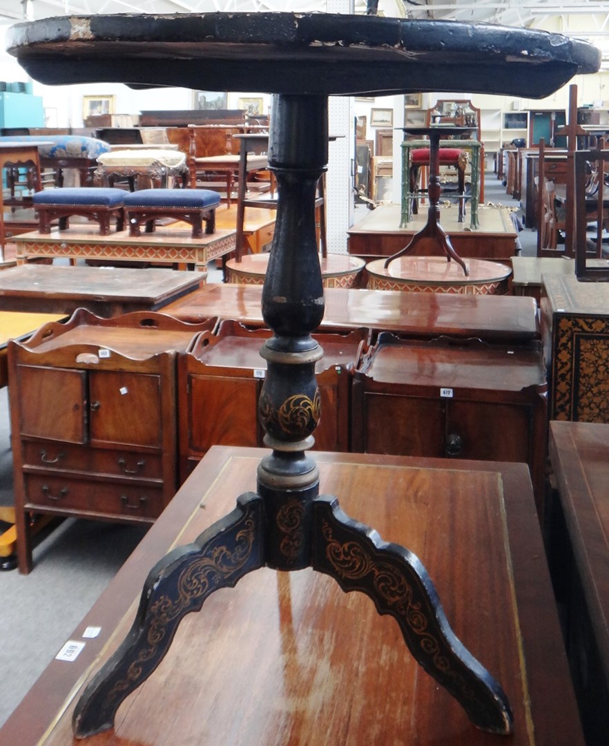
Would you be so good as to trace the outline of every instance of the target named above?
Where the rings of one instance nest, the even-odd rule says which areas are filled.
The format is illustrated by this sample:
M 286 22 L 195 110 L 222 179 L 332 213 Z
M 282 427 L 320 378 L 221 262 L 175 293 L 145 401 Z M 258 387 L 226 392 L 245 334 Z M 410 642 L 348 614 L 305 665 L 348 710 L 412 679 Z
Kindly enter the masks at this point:
M 145 179 L 145 186 L 167 189 L 174 181 L 186 186 L 188 166 L 186 154 L 168 148 L 124 148 L 103 153 L 98 157 L 95 183 L 114 186 L 116 181 L 127 180 L 131 192 L 137 182 Z

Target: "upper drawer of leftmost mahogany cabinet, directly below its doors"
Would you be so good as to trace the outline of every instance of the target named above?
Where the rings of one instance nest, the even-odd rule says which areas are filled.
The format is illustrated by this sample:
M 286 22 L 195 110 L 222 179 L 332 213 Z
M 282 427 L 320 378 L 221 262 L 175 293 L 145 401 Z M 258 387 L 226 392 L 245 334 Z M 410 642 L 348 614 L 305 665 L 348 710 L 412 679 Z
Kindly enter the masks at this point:
M 83 474 L 113 474 L 118 477 L 162 479 L 159 454 L 134 451 L 105 451 L 69 443 L 23 443 L 23 465 L 82 471 Z

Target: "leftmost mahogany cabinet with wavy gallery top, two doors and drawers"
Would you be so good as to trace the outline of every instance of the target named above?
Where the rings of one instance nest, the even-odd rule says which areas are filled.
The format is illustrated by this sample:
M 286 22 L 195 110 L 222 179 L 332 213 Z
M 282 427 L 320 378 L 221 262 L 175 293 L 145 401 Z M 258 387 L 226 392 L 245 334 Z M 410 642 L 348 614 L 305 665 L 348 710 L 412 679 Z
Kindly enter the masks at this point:
M 38 513 L 151 523 L 177 488 L 175 358 L 202 330 L 160 313 L 66 324 L 10 342 L 19 570 Z

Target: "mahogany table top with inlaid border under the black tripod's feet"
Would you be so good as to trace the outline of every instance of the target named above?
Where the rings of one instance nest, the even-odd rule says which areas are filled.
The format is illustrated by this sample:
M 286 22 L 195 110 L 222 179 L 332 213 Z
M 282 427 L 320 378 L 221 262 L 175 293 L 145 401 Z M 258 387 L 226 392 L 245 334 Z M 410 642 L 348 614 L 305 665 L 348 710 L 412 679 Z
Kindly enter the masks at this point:
M 255 489 L 266 451 L 212 448 L 3 729 L 5 743 L 72 744 L 84 680 L 116 648 L 141 584 Z M 420 557 L 449 623 L 505 689 L 515 745 L 582 743 L 531 483 L 523 464 L 316 454 L 321 490 Z M 373 499 L 370 499 L 373 498 Z M 485 540 L 481 540 L 485 537 Z M 101 627 L 92 639 L 87 627 Z M 180 626 L 160 667 L 83 744 L 496 745 L 411 658 L 395 621 L 310 569 L 256 571 Z

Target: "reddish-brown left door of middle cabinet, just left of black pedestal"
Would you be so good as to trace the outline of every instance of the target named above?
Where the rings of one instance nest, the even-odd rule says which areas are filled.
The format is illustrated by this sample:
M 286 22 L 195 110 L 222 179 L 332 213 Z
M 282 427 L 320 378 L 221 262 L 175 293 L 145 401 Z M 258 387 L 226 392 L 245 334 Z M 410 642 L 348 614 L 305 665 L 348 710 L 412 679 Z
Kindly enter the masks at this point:
M 262 445 L 256 378 L 193 375 L 189 386 L 189 451 L 212 445 Z

